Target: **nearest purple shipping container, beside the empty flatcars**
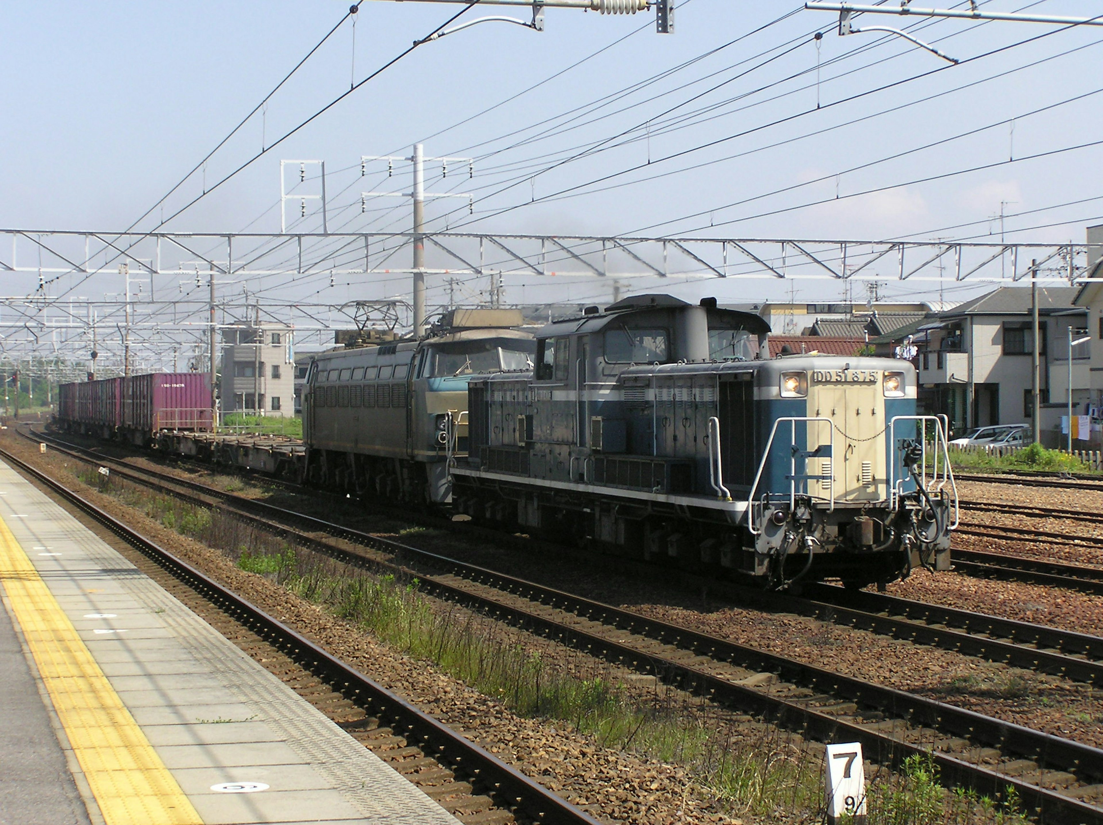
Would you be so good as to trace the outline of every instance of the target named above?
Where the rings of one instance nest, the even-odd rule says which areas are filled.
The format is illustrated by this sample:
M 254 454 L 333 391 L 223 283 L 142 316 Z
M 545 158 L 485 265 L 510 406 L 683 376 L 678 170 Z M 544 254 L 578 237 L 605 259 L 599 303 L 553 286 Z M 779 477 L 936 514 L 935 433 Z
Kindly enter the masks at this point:
M 143 433 L 212 429 L 207 373 L 153 373 L 120 381 L 122 428 Z

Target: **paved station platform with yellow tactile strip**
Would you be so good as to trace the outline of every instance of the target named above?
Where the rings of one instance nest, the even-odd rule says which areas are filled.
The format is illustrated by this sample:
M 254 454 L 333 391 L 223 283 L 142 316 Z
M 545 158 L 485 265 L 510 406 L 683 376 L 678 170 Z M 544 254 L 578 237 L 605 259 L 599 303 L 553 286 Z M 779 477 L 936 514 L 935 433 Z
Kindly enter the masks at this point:
M 0 825 L 457 825 L 2 463 L 0 593 Z

